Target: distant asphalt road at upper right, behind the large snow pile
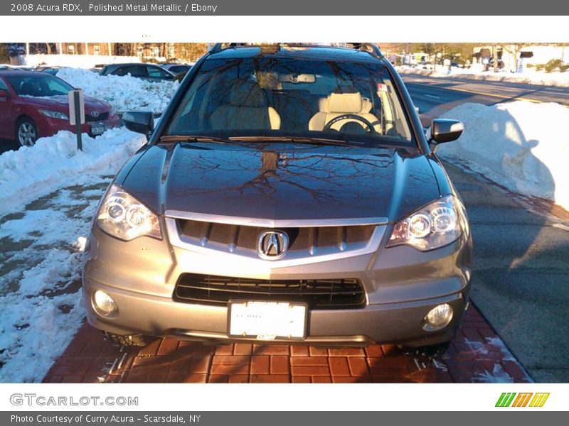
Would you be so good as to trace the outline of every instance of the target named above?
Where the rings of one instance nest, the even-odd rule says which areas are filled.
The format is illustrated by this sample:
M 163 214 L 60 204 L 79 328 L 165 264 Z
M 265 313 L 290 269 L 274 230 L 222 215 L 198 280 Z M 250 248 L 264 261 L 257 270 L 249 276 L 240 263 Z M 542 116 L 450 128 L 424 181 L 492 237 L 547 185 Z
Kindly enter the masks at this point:
M 557 102 L 569 107 L 569 87 L 535 84 L 459 80 L 456 78 L 401 75 L 419 107 L 423 125 L 465 102 L 493 105 L 525 99 L 530 102 Z

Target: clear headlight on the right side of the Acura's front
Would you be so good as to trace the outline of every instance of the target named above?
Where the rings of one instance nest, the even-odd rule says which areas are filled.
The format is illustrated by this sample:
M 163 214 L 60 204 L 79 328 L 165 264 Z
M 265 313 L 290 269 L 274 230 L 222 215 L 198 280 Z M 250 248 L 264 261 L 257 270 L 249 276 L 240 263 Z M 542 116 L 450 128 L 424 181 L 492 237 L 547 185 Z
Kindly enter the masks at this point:
M 422 251 L 446 246 L 456 241 L 464 230 L 463 209 L 452 195 L 442 197 L 397 222 L 387 246 L 408 244 Z

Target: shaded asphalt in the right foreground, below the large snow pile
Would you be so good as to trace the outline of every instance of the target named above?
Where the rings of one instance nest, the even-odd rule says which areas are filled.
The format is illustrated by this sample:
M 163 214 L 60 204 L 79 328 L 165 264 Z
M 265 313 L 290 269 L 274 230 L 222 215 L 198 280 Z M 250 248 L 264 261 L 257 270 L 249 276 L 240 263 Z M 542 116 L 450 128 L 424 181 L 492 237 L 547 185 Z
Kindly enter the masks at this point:
M 536 382 L 568 383 L 569 214 L 446 168 L 472 227 L 474 305 Z

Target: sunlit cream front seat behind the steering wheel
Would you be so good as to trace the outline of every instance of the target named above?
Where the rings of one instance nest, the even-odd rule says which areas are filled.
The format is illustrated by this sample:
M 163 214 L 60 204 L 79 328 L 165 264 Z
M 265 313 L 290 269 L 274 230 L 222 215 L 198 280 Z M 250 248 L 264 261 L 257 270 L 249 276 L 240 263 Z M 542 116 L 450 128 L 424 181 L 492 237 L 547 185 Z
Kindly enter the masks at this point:
M 332 119 L 344 114 L 354 114 L 366 119 L 372 124 L 376 123 L 373 125 L 373 128 L 381 132 L 381 124 L 377 123 L 378 118 L 371 114 L 371 107 L 371 100 L 361 97 L 359 92 L 331 93 L 328 97 L 319 99 L 319 112 L 314 114 L 312 119 L 308 122 L 308 129 L 321 131 Z M 356 119 L 341 119 L 332 124 L 331 129 L 339 131 L 344 124 L 350 122 L 360 124 L 363 129 L 367 129 L 363 121 Z

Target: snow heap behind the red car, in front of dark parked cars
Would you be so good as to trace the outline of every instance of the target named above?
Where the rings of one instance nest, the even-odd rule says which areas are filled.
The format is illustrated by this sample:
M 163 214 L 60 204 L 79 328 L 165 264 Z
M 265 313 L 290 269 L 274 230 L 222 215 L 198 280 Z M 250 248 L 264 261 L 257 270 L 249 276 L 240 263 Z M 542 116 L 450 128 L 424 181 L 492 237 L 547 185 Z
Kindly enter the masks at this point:
M 179 82 L 149 82 L 130 75 L 98 75 L 80 68 L 62 68 L 57 76 L 85 94 L 109 102 L 119 112 L 162 113 L 176 93 Z

